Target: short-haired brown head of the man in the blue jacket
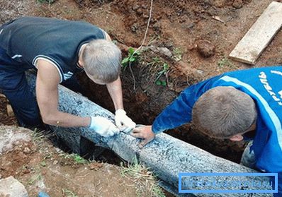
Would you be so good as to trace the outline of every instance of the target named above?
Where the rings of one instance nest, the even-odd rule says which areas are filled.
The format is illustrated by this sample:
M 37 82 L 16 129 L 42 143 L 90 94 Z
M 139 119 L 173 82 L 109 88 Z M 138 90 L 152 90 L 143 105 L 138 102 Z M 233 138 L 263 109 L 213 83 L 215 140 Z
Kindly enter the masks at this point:
M 256 121 L 256 107 L 249 95 L 233 87 L 219 86 L 205 92 L 196 102 L 192 121 L 213 138 L 230 138 L 249 131 Z

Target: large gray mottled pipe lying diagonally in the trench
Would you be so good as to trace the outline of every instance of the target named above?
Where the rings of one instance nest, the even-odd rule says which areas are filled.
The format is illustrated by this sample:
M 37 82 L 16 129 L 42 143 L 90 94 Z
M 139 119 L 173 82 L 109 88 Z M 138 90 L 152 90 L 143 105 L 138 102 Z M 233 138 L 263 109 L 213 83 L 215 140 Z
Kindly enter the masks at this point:
M 35 89 L 35 76 L 27 75 L 30 86 Z M 70 114 L 86 116 L 107 117 L 113 121 L 113 114 L 96 105 L 86 97 L 59 85 L 60 110 Z M 178 193 L 179 172 L 256 172 L 229 160 L 216 157 L 205 150 L 173 138 L 165 133 L 157 135 L 156 139 L 145 146 L 138 148 L 139 140 L 125 133 L 111 138 L 103 138 L 87 128 L 62 128 L 52 127 L 69 145 L 75 153 L 81 148 L 81 136 L 113 150 L 116 154 L 128 162 L 137 157 L 161 179 L 161 185 L 176 196 L 249 196 L 248 193 Z M 195 180 L 195 179 L 193 179 Z M 242 181 L 239 177 L 215 177 L 217 181 Z M 261 177 L 244 177 L 244 181 L 266 181 Z M 227 187 L 228 189 L 229 187 Z M 231 189 L 231 188 L 229 188 Z M 253 189 L 252 187 L 244 189 Z M 269 188 L 271 189 L 271 188 Z M 270 193 L 254 193 L 252 196 L 272 196 Z

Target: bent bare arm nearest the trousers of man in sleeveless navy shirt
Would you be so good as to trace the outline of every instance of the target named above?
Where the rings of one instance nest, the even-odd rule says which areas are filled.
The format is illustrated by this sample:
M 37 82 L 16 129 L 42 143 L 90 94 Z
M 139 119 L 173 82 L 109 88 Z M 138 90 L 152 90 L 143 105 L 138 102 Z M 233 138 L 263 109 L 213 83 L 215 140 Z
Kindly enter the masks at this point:
M 90 117 L 78 117 L 58 110 L 58 85 L 60 76 L 52 64 L 45 60 L 37 62 L 36 97 L 45 124 L 63 127 L 86 127 Z

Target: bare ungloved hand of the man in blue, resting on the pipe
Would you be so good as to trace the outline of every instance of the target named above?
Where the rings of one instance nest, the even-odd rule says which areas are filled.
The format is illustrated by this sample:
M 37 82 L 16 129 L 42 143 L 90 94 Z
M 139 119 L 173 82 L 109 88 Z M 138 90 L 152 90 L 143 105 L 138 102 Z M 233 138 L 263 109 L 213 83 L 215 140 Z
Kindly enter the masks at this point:
M 144 139 L 144 141 L 139 144 L 139 148 L 143 148 L 143 146 L 145 146 L 147 143 L 150 143 L 150 141 L 154 140 L 155 134 L 152 131 L 152 126 L 140 126 L 133 129 L 132 133 L 130 133 L 130 136 Z

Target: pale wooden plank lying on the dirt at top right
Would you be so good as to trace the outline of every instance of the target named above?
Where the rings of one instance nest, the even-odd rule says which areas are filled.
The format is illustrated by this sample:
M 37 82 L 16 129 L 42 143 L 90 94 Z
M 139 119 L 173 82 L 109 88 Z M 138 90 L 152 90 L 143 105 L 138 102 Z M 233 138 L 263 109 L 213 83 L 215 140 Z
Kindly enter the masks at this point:
M 282 26 L 282 3 L 273 1 L 256 23 L 239 41 L 230 57 L 247 64 L 255 64 L 261 52 Z

